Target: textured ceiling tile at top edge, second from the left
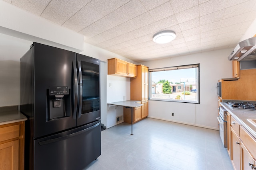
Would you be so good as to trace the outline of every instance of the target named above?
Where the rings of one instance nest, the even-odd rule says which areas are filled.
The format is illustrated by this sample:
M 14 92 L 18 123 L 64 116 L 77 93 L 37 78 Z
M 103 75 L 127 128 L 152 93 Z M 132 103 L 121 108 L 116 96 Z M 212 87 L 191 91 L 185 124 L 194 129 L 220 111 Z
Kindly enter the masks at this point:
M 62 25 L 76 12 L 82 9 L 90 0 L 52 0 L 42 12 L 41 17 Z

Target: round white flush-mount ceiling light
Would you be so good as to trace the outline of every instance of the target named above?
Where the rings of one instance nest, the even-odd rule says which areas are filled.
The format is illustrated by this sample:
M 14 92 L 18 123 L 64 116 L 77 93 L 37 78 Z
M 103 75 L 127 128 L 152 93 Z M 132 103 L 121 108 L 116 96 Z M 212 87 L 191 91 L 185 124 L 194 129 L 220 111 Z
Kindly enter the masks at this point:
M 176 38 L 176 34 L 173 31 L 162 31 L 157 33 L 153 37 L 153 41 L 158 44 L 169 43 Z

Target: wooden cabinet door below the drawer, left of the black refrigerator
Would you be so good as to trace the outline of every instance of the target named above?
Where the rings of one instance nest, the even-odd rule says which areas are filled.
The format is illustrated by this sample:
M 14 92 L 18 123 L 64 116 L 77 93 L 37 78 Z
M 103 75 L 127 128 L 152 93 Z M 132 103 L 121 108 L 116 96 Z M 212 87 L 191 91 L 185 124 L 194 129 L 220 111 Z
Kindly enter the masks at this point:
M 0 145 L 0 170 L 19 169 L 19 140 Z

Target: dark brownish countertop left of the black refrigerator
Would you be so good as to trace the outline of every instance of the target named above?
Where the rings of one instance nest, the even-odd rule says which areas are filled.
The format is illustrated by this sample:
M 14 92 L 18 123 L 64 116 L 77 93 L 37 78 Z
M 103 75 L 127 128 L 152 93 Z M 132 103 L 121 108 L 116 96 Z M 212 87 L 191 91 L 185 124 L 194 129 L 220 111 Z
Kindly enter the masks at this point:
M 3 111 L 0 112 L 0 125 L 8 123 L 15 123 L 19 121 L 25 121 L 27 117 L 20 113 L 18 110 L 15 111 Z

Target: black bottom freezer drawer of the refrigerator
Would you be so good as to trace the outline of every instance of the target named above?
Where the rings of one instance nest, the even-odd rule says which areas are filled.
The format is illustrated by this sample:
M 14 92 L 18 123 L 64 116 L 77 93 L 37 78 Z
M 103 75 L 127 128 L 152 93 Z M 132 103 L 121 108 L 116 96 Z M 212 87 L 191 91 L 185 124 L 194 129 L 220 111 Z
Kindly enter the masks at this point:
M 82 170 L 100 156 L 100 120 L 34 141 L 35 170 Z

